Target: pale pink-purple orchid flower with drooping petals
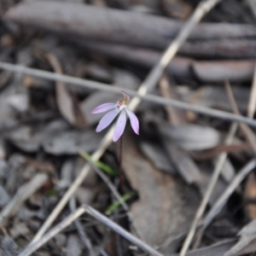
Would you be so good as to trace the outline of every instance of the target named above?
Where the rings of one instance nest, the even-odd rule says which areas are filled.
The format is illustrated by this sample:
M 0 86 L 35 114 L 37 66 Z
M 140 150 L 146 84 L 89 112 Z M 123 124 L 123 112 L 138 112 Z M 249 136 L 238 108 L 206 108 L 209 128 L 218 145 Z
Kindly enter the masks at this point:
M 124 98 L 119 102 L 104 103 L 91 111 L 91 113 L 103 113 L 108 110 L 111 110 L 102 117 L 102 119 L 99 122 L 99 125 L 96 128 L 96 132 L 100 132 L 106 127 L 108 127 L 108 125 L 110 125 L 113 122 L 113 119 L 115 119 L 116 116 L 120 113 L 119 119 L 117 120 L 117 124 L 115 125 L 113 132 L 114 143 L 119 140 L 119 137 L 121 137 L 123 132 L 125 131 L 127 114 L 130 118 L 131 127 L 133 131 L 137 135 L 139 133 L 139 123 L 137 116 L 134 113 L 132 113 L 131 110 L 129 110 L 127 107 L 130 97 L 125 93 L 124 90 L 122 90 L 121 92 L 124 95 Z

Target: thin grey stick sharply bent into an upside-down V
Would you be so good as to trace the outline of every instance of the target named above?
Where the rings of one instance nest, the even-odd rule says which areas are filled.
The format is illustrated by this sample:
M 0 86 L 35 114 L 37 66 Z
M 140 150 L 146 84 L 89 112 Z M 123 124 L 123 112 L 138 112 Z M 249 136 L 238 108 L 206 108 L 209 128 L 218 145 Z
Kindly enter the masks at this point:
M 42 247 L 44 243 L 49 241 L 52 237 L 56 236 L 61 230 L 67 228 L 68 225 L 72 224 L 74 220 L 79 218 L 84 212 L 89 213 L 92 217 L 96 218 L 102 224 L 107 225 L 109 228 L 117 232 L 120 236 L 125 237 L 128 241 L 135 244 L 137 247 L 142 249 L 144 252 L 149 253 L 154 256 L 163 256 L 163 254 L 157 252 L 153 247 L 150 247 L 144 241 L 141 241 L 136 236 L 132 236 L 131 233 L 124 230 L 118 224 L 115 224 L 113 220 L 105 217 L 102 213 L 97 212 L 94 208 L 83 206 L 79 207 L 76 212 L 71 213 L 67 218 L 63 219 L 60 224 L 57 224 L 52 230 L 49 230 L 47 234 L 45 234 L 39 241 L 33 243 L 31 246 L 27 247 L 23 252 L 21 252 L 18 256 L 29 256 L 34 253 L 39 247 Z

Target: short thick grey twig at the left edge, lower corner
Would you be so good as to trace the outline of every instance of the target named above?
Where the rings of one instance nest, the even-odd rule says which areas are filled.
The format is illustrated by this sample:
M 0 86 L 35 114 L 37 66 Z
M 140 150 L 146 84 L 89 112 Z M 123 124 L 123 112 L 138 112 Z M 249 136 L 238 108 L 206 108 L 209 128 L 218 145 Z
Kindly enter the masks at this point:
M 44 186 L 48 177 L 44 173 L 38 173 L 28 183 L 23 184 L 16 192 L 14 198 L 9 201 L 9 204 L 3 208 L 0 213 L 0 228 L 6 223 L 6 221 L 15 215 L 20 210 L 20 207 L 31 195 L 33 195 L 38 189 Z

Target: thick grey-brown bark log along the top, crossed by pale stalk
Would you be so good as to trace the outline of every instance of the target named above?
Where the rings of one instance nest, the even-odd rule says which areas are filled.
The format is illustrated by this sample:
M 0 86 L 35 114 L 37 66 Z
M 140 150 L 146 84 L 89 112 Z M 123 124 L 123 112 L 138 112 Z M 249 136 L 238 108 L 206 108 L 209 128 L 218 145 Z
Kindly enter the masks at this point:
M 96 8 L 82 3 L 55 1 L 25 2 L 15 5 L 5 20 L 36 26 L 52 32 L 117 43 L 166 48 L 183 26 L 163 17 L 141 15 L 117 9 Z M 154 26 L 152 26 L 154 24 Z M 200 24 L 191 39 L 246 38 L 256 36 L 256 28 L 238 24 Z

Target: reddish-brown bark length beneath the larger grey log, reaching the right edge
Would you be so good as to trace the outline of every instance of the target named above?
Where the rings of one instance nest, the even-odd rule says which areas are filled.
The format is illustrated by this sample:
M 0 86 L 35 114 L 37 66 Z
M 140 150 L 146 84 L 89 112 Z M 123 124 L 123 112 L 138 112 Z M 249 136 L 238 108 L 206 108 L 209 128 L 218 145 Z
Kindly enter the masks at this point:
M 160 51 L 153 49 L 82 40 L 75 40 L 75 43 L 88 53 L 93 51 L 110 59 L 131 62 L 140 67 L 151 68 L 160 59 Z M 166 71 L 179 83 L 191 82 L 195 79 L 203 83 L 223 83 L 224 79 L 242 83 L 252 80 L 254 65 L 253 60 L 193 61 L 177 56 L 168 65 Z

